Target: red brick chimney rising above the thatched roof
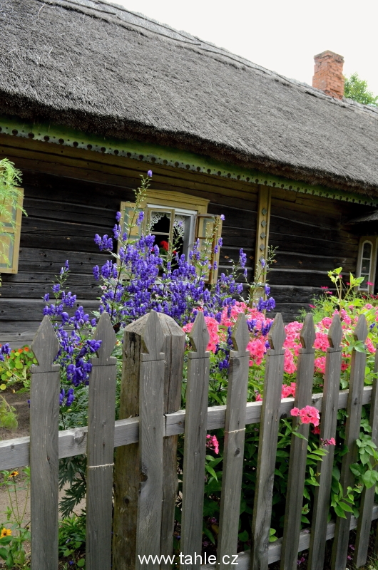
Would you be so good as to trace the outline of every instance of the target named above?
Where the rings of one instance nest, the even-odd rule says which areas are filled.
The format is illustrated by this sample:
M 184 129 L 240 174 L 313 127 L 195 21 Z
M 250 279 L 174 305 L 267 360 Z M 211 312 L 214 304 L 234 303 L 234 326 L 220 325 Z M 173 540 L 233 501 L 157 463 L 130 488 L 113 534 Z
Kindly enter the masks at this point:
M 314 61 L 312 87 L 321 89 L 331 97 L 342 99 L 344 95 L 344 76 L 342 75 L 344 58 L 333 51 L 326 50 L 314 56 Z

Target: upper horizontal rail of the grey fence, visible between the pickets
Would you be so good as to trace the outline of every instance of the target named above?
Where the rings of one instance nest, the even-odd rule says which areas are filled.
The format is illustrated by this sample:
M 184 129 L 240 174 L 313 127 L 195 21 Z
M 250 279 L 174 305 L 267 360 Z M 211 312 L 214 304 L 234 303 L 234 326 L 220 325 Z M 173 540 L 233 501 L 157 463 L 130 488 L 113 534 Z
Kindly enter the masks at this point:
M 341 390 L 338 396 L 337 408 L 347 407 L 347 390 Z M 372 386 L 364 386 L 362 404 L 369 404 L 372 397 Z M 323 394 L 312 394 L 312 405 L 322 411 Z M 260 423 L 262 402 L 248 402 L 245 406 L 245 424 Z M 280 405 L 280 416 L 290 414 L 294 407 L 294 398 L 284 398 Z M 208 408 L 207 430 L 225 427 L 225 410 L 223 405 Z M 185 410 L 165 415 L 165 435 L 176 435 L 184 432 Z M 86 452 L 86 426 L 58 432 L 59 459 L 73 457 Z M 128 446 L 139 440 L 139 418 L 116 420 L 114 432 L 114 447 Z M 16 437 L 13 440 L 0 441 L 0 470 L 14 469 L 21 465 L 30 464 L 30 437 Z

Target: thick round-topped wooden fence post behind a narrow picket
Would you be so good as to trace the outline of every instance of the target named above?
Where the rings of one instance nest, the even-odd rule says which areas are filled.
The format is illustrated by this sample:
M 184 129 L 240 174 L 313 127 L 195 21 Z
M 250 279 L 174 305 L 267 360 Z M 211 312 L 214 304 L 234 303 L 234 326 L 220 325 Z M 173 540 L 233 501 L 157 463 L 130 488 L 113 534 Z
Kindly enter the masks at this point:
M 128 325 L 123 337 L 123 371 L 119 418 L 139 414 L 140 361 L 142 336 L 148 321 L 145 315 Z M 164 413 L 180 409 L 185 333 L 173 318 L 157 313 L 164 333 Z M 175 498 L 178 487 L 177 442 L 173 435 L 163 440 L 163 512 L 161 554 L 172 554 Z M 136 564 L 138 491 L 142 480 L 138 443 L 118 447 L 114 470 L 113 567 L 131 570 Z

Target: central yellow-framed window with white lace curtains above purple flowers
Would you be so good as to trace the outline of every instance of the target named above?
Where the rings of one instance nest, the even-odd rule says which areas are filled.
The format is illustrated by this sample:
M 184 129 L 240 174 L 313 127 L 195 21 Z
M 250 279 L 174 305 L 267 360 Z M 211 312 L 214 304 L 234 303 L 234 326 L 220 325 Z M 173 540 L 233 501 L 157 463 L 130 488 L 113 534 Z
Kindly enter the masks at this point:
M 185 195 L 181 192 L 160 192 L 148 190 L 145 203 L 141 204 L 145 212 L 143 226 L 134 228 L 136 235 L 143 231 L 150 231 L 155 235 L 155 243 L 160 248 L 172 247 L 173 244 L 178 254 L 188 257 L 193 243 L 199 239 L 200 247 L 205 244 L 205 238 L 213 233 L 215 219 L 218 219 L 218 232 L 214 242 L 221 234 L 222 222 L 219 216 L 207 213 L 208 200 L 195 196 Z M 128 217 L 133 213 L 135 204 L 130 202 L 121 203 L 122 222 L 125 224 Z M 213 244 L 215 246 L 215 243 Z M 219 262 L 219 253 L 214 254 L 212 263 Z M 218 270 L 210 271 L 208 282 L 213 283 L 218 278 Z

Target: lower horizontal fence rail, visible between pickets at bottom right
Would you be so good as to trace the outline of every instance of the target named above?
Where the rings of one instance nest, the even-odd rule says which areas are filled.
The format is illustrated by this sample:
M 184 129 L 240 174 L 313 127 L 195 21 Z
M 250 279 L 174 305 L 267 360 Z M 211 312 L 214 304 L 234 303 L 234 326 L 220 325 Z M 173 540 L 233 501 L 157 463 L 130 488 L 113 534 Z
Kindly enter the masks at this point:
M 372 521 L 378 519 L 378 504 L 374 504 L 373 511 L 372 511 Z M 326 539 L 330 540 L 334 537 L 334 527 L 336 525 L 334 522 L 329 522 L 326 528 Z M 351 517 L 350 519 L 350 527 L 349 529 L 355 529 L 357 527 L 357 519 L 355 517 Z M 309 529 L 304 529 L 300 532 L 300 544 L 298 552 L 302 552 L 303 550 L 307 550 L 310 546 L 310 533 L 308 532 Z M 271 542 L 269 545 L 268 551 L 268 561 L 269 564 L 273 562 L 277 562 L 281 558 L 281 550 L 282 550 L 282 539 L 278 539 L 275 542 Z M 200 570 L 215 570 L 218 568 L 217 566 L 212 566 L 211 564 L 204 564 L 201 566 Z M 239 552 L 237 555 L 237 570 L 250 570 L 250 550 L 245 550 L 243 552 Z

